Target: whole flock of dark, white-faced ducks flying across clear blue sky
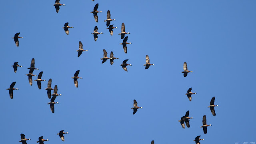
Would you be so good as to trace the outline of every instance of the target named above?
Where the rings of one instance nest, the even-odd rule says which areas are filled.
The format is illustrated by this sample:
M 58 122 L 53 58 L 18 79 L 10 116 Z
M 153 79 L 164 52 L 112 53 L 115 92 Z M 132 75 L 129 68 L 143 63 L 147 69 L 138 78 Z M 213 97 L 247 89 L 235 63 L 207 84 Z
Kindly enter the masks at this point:
M 92 0 L 92 1 L 94 1 L 94 0 Z M 56 0 L 54 6 L 55 6 L 55 8 L 56 8 L 56 12 L 58 13 L 59 10 L 60 10 L 60 6 L 65 6 L 65 4 L 60 4 L 60 0 Z M 91 13 L 93 14 L 94 19 L 95 19 L 96 22 L 98 22 L 98 15 L 97 15 L 97 13 L 102 12 L 102 11 L 98 11 L 98 6 L 99 6 L 99 4 L 96 4 L 96 5 L 94 6 L 94 10 L 91 12 Z M 114 29 L 114 28 L 117 28 L 117 27 L 113 27 L 113 24 L 110 25 L 110 22 L 111 22 L 112 20 L 115 20 L 115 19 L 111 19 L 111 18 L 110 18 L 110 10 L 108 10 L 108 12 L 107 12 L 107 19 L 104 20 L 104 22 L 106 22 L 106 26 L 109 26 L 107 29 L 109 30 L 111 36 L 113 35 L 113 29 Z M 62 28 L 64 28 L 64 31 L 65 31 L 66 34 L 68 35 L 68 34 L 69 34 L 69 30 L 68 30 L 68 29 L 69 29 L 69 28 L 74 28 L 74 27 L 73 27 L 73 26 L 71 26 L 71 27 L 68 26 L 68 22 L 67 22 L 67 23 L 64 24 L 64 27 L 62 27 Z M 16 34 L 14 35 L 14 37 L 13 37 L 16 46 L 19 46 L 19 40 L 18 40 L 18 38 L 23 38 L 23 37 L 19 37 L 19 34 L 20 34 L 20 33 L 18 32 L 18 33 L 16 33 Z M 95 26 L 95 27 L 94 27 L 94 32 L 93 32 L 92 34 L 93 34 L 93 36 L 94 36 L 94 40 L 97 41 L 97 39 L 98 39 L 98 34 L 103 34 L 103 33 L 102 33 L 102 32 L 98 32 L 98 27 Z M 122 44 L 123 49 L 124 49 L 124 52 L 127 53 L 127 46 L 126 46 L 126 45 L 127 45 L 127 44 L 132 44 L 132 43 L 131 43 L 131 42 L 129 42 L 129 43 L 127 42 L 128 36 L 124 37 L 125 34 L 130 34 L 130 33 L 129 33 L 129 32 L 125 32 L 125 25 L 124 25 L 124 23 L 122 23 L 121 33 L 119 33 L 119 35 L 121 35 L 121 39 L 124 39 L 124 40 L 123 40 L 123 42 L 120 43 L 120 44 Z M 84 49 L 83 49 L 82 42 L 79 41 L 79 50 L 76 50 L 76 51 L 78 52 L 78 57 L 79 57 L 79 56 L 82 54 L 82 52 L 85 52 L 85 51 L 88 51 L 88 50 L 84 50 Z M 110 57 L 108 57 L 107 55 L 108 55 L 108 53 L 106 52 L 105 49 L 103 49 L 103 58 L 101 58 L 102 64 L 103 64 L 104 62 L 106 62 L 107 60 L 110 60 L 110 64 L 112 65 L 112 64 L 114 63 L 114 59 L 119 59 L 119 58 L 114 57 L 114 54 L 113 54 L 112 51 L 111 51 L 111 53 L 110 53 Z M 122 68 L 123 68 L 126 72 L 127 72 L 126 66 L 132 66 L 132 64 L 127 64 L 127 61 L 128 61 L 128 60 L 129 60 L 129 59 L 124 60 L 124 61 L 122 62 L 122 64 L 120 65 L 120 66 L 122 66 Z M 148 69 L 151 65 L 154 65 L 154 64 L 150 64 L 149 56 L 146 55 L 146 64 L 144 64 L 144 66 L 146 66 L 145 69 Z M 22 66 L 18 65 L 18 62 L 14 62 L 14 64 L 12 65 L 12 67 L 14 68 L 14 72 L 16 73 L 16 72 L 17 72 L 17 68 L 18 68 L 18 67 L 22 67 Z M 31 64 L 30 64 L 30 68 L 28 68 L 28 69 L 29 69 L 29 73 L 26 74 L 26 75 L 28 76 L 29 84 L 32 86 L 32 82 L 33 82 L 32 76 L 37 76 L 37 75 L 34 75 L 34 74 L 33 74 L 33 71 L 34 71 L 34 70 L 39 70 L 38 68 L 35 68 L 35 59 L 34 59 L 34 58 L 32 58 Z M 182 73 L 184 74 L 184 77 L 186 77 L 189 72 L 193 72 L 193 71 L 189 71 L 189 70 L 188 70 L 188 66 L 187 66 L 187 63 L 186 63 L 186 62 L 184 62 L 184 64 L 183 64 L 183 69 L 184 69 L 184 71 L 183 71 Z M 74 85 L 76 86 L 76 88 L 78 88 L 78 79 L 81 78 L 81 77 L 78 77 L 79 72 L 80 72 L 80 70 L 77 70 L 77 71 L 75 72 L 74 76 L 72 77 L 72 78 L 74 79 Z M 34 81 L 37 82 L 37 85 L 38 85 L 38 88 L 39 88 L 39 89 L 41 89 L 41 81 L 45 81 L 45 80 L 42 80 L 42 79 L 41 79 L 41 78 L 42 78 L 42 74 L 43 74 L 43 71 L 41 71 L 41 72 L 38 74 L 38 78 L 37 78 L 36 80 L 34 80 Z M 14 85 L 15 85 L 15 84 L 16 84 L 16 82 L 12 82 L 12 84 L 10 85 L 10 88 L 7 89 L 7 90 L 9 90 L 9 95 L 10 95 L 10 98 L 11 98 L 11 99 L 13 98 L 13 90 L 18 90 L 18 88 L 14 88 Z M 45 90 L 47 90 L 47 96 L 48 96 L 48 98 L 51 99 L 50 102 L 48 102 L 48 104 L 50 104 L 50 109 L 51 109 L 52 113 L 54 113 L 54 104 L 58 104 L 58 102 L 54 102 L 54 100 L 56 99 L 57 96 L 60 96 L 61 94 L 58 94 L 58 87 L 57 87 L 57 85 L 54 86 L 54 89 L 51 88 L 51 85 L 52 85 L 52 79 L 50 78 L 50 79 L 48 80 L 48 85 L 47 85 L 47 88 L 45 88 Z M 51 94 L 51 90 L 54 90 L 53 94 Z M 191 95 L 192 95 L 192 94 L 196 94 L 196 92 L 191 92 L 191 90 L 192 90 L 192 88 L 189 88 L 188 91 L 187 91 L 187 94 L 186 94 L 187 97 L 188 97 L 188 100 L 190 100 L 190 101 L 192 100 L 192 96 L 191 96 Z M 215 107 L 215 106 L 218 106 L 218 105 L 214 105 L 214 101 L 215 101 L 215 97 L 212 97 L 212 100 L 210 101 L 210 106 L 208 106 L 208 108 L 210 108 L 210 110 L 211 110 L 211 112 L 212 112 L 212 115 L 213 115 L 213 116 L 216 116 L 214 107 Z M 142 108 L 142 107 L 138 107 L 137 101 L 134 100 L 134 106 L 132 107 L 132 109 L 133 109 L 133 114 L 135 114 L 139 108 Z M 193 117 L 189 117 L 189 110 L 188 110 L 188 111 L 186 112 L 185 116 L 182 116 L 182 117 L 180 118 L 180 120 L 178 120 L 178 122 L 180 122 L 182 128 L 185 128 L 184 122 L 186 123 L 186 126 L 189 128 L 189 127 L 190 127 L 189 119 L 192 119 L 192 118 L 193 118 Z M 203 128 L 204 134 L 207 134 L 207 127 L 208 127 L 208 126 L 212 126 L 212 125 L 211 125 L 211 124 L 208 125 L 208 124 L 206 123 L 206 115 L 203 116 L 202 123 L 203 123 L 203 125 L 201 126 L 201 128 Z M 60 138 L 61 138 L 62 141 L 64 141 L 64 136 L 63 136 L 63 134 L 68 134 L 68 132 L 64 132 L 64 130 L 61 130 L 61 131 L 58 133 L 58 135 L 60 136 Z M 22 142 L 22 144 L 27 144 L 27 143 L 26 143 L 26 140 L 30 140 L 30 138 L 29 138 L 29 139 L 26 139 L 24 134 L 20 134 L 20 136 L 21 136 L 21 141 L 20 141 L 20 142 Z M 195 138 L 194 141 L 196 142 L 196 144 L 200 144 L 200 142 L 199 142 L 200 140 L 204 140 L 204 139 L 200 139 L 200 136 L 196 136 L 196 138 Z M 37 141 L 37 143 L 39 142 L 39 144 L 44 144 L 44 141 L 48 141 L 48 139 L 44 140 L 44 139 L 43 139 L 43 136 L 40 136 L 40 137 L 39 137 L 39 140 Z M 151 144 L 154 144 L 154 140 L 152 140 Z

